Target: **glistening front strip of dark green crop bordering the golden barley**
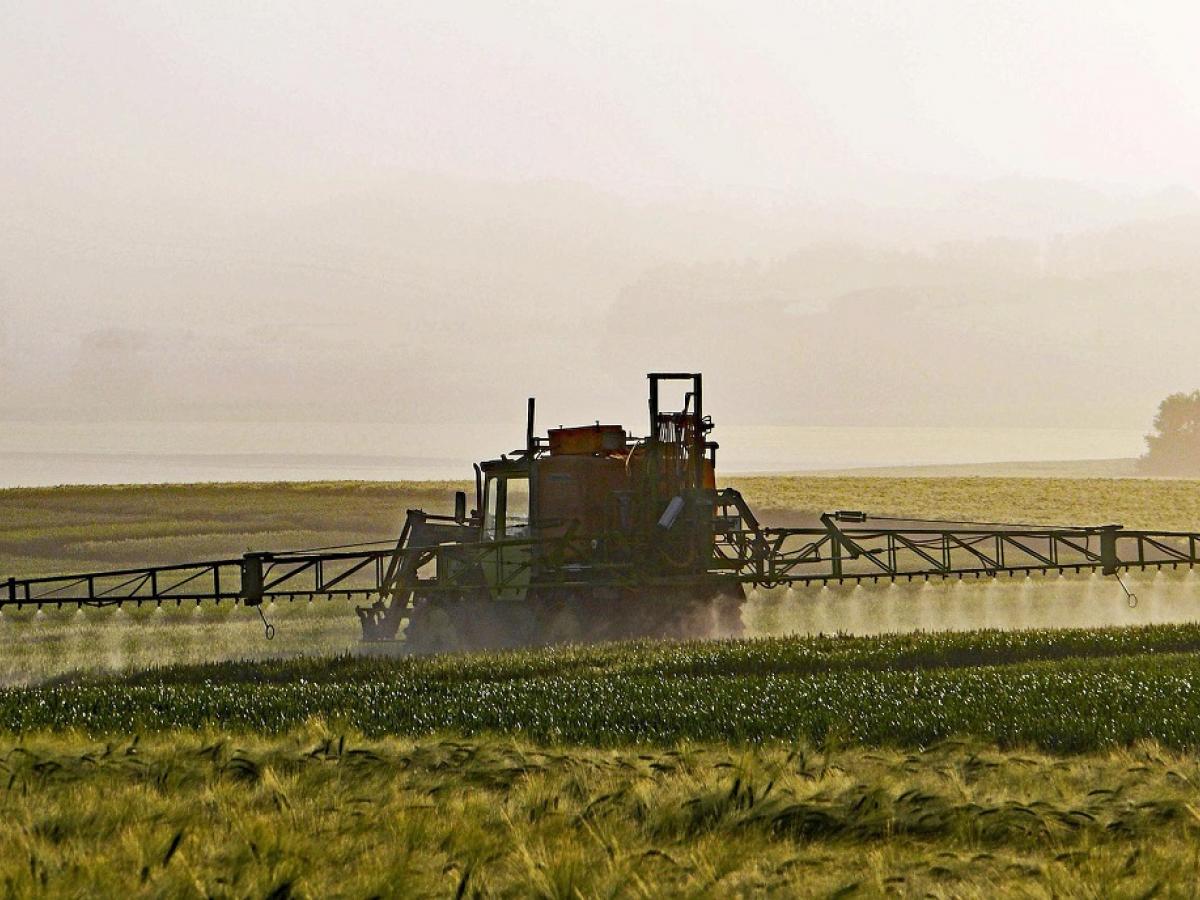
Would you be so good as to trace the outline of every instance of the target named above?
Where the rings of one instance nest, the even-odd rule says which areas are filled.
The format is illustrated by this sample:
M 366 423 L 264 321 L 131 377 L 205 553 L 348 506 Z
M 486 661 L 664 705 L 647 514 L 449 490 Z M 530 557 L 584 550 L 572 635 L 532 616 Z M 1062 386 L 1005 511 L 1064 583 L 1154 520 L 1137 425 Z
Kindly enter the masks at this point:
M 583 744 L 804 739 L 924 746 L 974 736 L 1056 751 L 1140 739 L 1196 748 L 1200 660 L 1178 654 L 766 676 L 108 683 L 0 692 L 0 730 L 10 732 L 220 725 L 274 733 L 312 719 L 370 736 L 451 731 Z

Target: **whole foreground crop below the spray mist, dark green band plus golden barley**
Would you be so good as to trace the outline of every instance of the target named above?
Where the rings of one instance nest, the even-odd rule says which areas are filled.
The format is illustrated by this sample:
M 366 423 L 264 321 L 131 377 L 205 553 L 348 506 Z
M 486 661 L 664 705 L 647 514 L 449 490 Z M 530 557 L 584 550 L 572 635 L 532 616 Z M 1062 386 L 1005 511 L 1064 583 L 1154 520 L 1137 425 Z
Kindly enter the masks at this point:
M 7 893 L 1150 896 L 1200 626 L 76 676 L 0 691 Z

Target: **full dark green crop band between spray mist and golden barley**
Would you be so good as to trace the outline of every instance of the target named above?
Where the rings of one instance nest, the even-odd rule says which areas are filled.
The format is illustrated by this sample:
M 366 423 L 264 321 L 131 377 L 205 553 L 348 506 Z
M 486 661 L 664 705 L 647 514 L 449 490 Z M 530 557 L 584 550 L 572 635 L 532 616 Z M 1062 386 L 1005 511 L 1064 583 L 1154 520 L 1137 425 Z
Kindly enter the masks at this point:
M 76 677 L 0 691 L 0 731 L 92 736 L 312 718 L 371 737 L 546 744 L 803 740 L 919 749 L 955 736 L 1086 752 L 1200 748 L 1200 629 L 617 644 L 426 659 L 299 659 Z

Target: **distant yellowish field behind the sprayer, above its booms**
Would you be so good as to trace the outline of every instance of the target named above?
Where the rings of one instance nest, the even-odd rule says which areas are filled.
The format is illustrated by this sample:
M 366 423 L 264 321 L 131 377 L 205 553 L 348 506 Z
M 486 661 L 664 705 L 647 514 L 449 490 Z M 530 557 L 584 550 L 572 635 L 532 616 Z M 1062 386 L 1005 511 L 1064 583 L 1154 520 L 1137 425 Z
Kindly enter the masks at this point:
M 739 478 L 763 522 L 860 509 L 986 522 L 1200 530 L 1200 481 Z M 389 540 L 404 510 L 449 511 L 464 482 L 149 485 L 0 491 L 0 576 Z

